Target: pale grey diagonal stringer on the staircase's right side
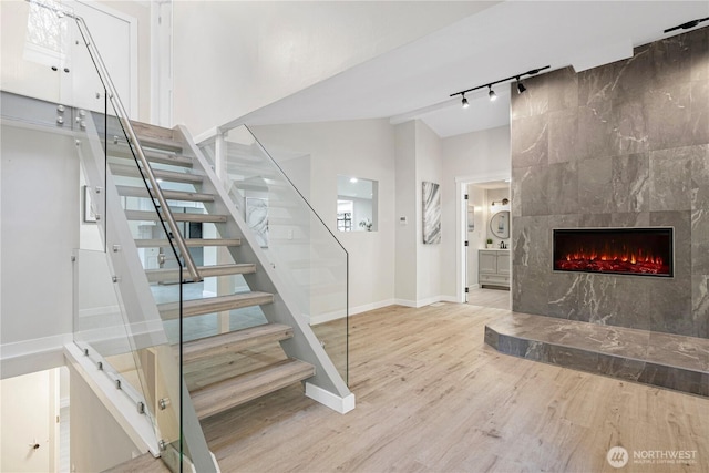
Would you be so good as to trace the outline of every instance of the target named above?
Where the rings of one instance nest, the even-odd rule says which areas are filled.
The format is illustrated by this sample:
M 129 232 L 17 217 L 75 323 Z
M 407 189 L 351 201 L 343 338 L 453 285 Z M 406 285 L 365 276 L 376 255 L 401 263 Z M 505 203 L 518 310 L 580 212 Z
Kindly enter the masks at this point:
M 276 270 L 271 268 L 268 258 L 254 235 L 250 232 L 242 230 L 242 228 L 248 228 L 248 225 L 229 199 L 219 178 L 212 169 L 202 151 L 194 143 L 188 131 L 182 125 L 177 125 L 176 130 L 182 134 L 185 147 L 194 154 L 195 165 L 198 164 L 204 172 L 205 179 L 202 192 L 218 196 L 214 203 L 209 204 L 210 213 L 228 215 L 230 218 L 227 218 L 227 222 L 222 224 L 226 226 L 225 234 L 240 235 L 242 246 L 229 248 L 234 259 L 259 263 L 257 273 L 245 275 L 244 277 L 249 287 L 274 295 L 274 302 L 261 307 L 266 319 L 270 323 L 284 323 L 294 329 L 294 337 L 280 342 L 284 351 L 291 358 L 306 361 L 316 367 L 315 376 L 306 382 L 306 395 L 340 413 L 352 410 L 354 408 L 354 394 L 350 392 L 340 377 L 337 368 L 307 323 L 306 317 L 297 309 L 295 304 L 296 296 L 292 289 L 285 285 Z M 286 177 L 284 176 L 284 178 Z

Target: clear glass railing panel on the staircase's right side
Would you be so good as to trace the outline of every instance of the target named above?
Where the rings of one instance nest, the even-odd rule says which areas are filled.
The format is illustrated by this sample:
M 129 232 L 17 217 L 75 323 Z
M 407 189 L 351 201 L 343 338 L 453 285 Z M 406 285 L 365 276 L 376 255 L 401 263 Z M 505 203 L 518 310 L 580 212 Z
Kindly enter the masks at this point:
M 201 147 L 258 250 L 347 382 L 347 250 L 247 126 L 222 131 Z

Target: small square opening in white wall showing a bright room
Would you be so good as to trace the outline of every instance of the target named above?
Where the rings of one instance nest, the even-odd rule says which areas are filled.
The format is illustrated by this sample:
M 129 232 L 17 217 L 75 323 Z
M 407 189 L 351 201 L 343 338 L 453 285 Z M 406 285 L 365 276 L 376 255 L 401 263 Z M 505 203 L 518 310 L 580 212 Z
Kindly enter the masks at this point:
M 337 176 L 337 229 L 377 232 L 379 182 Z

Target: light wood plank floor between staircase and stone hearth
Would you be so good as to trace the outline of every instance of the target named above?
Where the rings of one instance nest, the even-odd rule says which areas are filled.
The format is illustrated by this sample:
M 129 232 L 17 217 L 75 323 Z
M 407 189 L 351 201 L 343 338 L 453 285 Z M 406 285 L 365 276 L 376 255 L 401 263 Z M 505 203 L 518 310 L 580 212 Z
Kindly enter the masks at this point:
M 353 316 L 357 409 L 338 414 L 294 387 L 208 419 L 222 471 L 709 471 L 709 400 L 500 354 L 483 327 L 502 313 L 445 304 Z M 696 451 L 696 463 L 615 470 L 616 445 Z

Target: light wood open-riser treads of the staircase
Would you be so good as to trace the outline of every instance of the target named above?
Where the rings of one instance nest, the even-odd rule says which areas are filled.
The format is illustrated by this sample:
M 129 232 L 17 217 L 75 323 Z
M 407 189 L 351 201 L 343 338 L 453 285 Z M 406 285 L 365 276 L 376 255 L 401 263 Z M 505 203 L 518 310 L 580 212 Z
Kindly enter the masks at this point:
M 238 235 L 225 235 L 227 229 L 225 224 L 229 220 L 229 216 L 209 212 L 210 204 L 219 197 L 202 191 L 204 173 L 198 162 L 186 155 L 181 141 L 175 138 L 176 132 L 142 123 L 133 123 L 133 127 L 138 134 L 144 154 L 151 162 L 151 168 L 171 207 L 188 203 L 191 210 L 194 210 L 173 212 L 175 220 L 185 225 L 191 223 L 215 225 L 218 237 L 186 238 L 187 247 L 239 247 L 242 238 Z M 157 213 L 150 204 L 151 193 L 145 187 L 141 168 L 134 162 L 130 146 L 124 140 L 116 137 L 113 143 L 109 143 L 109 155 L 110 169 L 116 182 L 117 193 L 126 203 L 124 208 L 127 220 L 133 222 L 133 227 L 150 226 L 150 224 L 153 226 L 152 235 L 148 237 L 143 235 L 135 239 L 136 247 L 157 249 L 161 254 L 164 250 L 172 251 L 164 233 L 156 235 L 162 232 L 162 226 Z M 225 253 L 222 251 L 222 254 Z M 229 278 L 256 271 L 258 271 L 257 265 L 251 261 L 198 267 L 203 278 Z M 186 269 L 181 273 L 178 268 L 147 268 L 145 274 L 153 286 L 174 285 L 178 279 L 182 279 L 183 284 L 194 284 L 191 282 L 191 276 Z M 201 317 L 274 302 L 273 294 L 256 289 L 183 300 L 182 317 Z M 157 304 L 163 321 L 178 319 L 179 306 L 178 301 Z M 288 326 L 265 323 L 184 343 L 182 347 L 183 372 L 198 418 L 217 414 L 314 377 L 312 364 L 289 358 L 281 349 L 279 342 L 292 336 L 294 331 Z M 174 350 L 179 354 L 178 346 L 175 346 Z

